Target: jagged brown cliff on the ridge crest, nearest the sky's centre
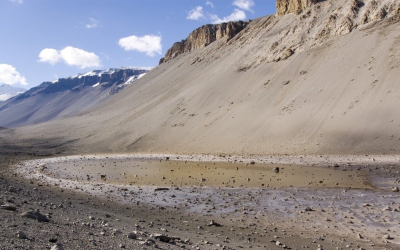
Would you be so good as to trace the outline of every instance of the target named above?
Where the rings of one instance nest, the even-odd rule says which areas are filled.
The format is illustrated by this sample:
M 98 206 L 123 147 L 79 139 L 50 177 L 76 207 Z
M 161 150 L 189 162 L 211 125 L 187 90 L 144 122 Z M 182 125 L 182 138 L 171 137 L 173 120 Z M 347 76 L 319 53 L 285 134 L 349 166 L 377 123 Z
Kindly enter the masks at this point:
M 221 24 L 206 24 L 194 29 L 186 39 L 173 43 L 159 63 L 166 62 L 177 55 L 202 48 L 219 39 L 230 40 L 248 24 L 248 21 L 229 21 Z

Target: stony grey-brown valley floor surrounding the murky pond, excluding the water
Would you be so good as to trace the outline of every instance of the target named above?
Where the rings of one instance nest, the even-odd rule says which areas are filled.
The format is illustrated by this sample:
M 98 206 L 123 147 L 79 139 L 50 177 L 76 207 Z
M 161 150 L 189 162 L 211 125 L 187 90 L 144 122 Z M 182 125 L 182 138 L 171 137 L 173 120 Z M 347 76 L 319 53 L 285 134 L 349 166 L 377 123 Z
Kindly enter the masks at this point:
M 365 178 L 369 187 L 171 185 L 158 190 L 156 186 L 56 179 L 37 171 L 47 159 L 4 152 L 0 195 L 11 210 L 0 209 L 0 248 L 57 249 L 56 243 L 65 249 L 400 247 L 400 195 L 391 190 L 398 185 L 400 167 L 396 156 L 138 157 L 144 156 L 170 160 L 178 157 L 183 161 L 254 160 L 314 165 L 316 169 L 337 163 L 337 169 Z M 30 160 L 30 165 L 25 160 Z M 34 209 L 49 221 L 20 215 Z M 210 221 L 215 223 L 210 225 Z M 128 238 L 129 232 L 134 232 L 131 235 L 136 239 Z

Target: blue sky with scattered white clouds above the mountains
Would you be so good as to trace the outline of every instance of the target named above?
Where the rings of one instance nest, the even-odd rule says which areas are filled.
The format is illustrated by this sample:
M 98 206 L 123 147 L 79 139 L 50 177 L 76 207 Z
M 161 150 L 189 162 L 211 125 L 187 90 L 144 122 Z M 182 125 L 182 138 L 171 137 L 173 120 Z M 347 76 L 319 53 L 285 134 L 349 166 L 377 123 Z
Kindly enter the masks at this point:
M 156 66 L 203 24 L 275 12 L 275 0 L 0 0 L 0 85 Z

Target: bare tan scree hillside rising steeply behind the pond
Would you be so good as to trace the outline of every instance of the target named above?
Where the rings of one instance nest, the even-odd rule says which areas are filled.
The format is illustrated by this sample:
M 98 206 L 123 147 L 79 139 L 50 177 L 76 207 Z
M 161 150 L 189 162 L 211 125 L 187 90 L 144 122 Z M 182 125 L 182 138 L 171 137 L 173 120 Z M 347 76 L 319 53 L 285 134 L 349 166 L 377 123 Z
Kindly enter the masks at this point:
M 78 152 L 398 154 L 399 10 L 326 0 L 260 17 L 89 111 L 1 136 Z

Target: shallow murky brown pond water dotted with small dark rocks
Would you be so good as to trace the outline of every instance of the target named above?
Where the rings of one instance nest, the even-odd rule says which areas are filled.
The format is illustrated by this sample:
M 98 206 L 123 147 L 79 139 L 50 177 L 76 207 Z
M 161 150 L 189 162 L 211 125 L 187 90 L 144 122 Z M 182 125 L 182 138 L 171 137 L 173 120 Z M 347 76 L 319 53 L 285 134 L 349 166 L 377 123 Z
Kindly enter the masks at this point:
M 356 170 L 300 165 L 82 159 L 49 163 L 43 171 L 55 178 L 128 185 L 371 188 Z

